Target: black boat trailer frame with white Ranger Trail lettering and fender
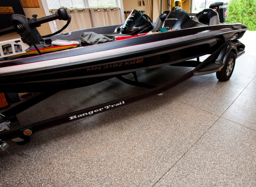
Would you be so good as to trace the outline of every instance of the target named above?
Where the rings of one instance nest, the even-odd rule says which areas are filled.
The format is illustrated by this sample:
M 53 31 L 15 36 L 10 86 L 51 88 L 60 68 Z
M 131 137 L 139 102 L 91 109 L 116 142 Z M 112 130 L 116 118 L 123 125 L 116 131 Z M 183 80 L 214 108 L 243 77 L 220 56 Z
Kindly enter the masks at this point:
M 240 43 L 239 41 L 235 43 L 228 41 L 202 62 L 200 62 L 199 57 L 197 57 L 197 60 L 189 60 L 178 64 L 172 64 L 172 66 L 175 65 L 194 68 L 191 68 L 192 70 L 184 72 L 183 75 L 180 75 L 175 80 L 171 80 L 167 84 L 161 86 L 155 86 L 139 82 L 136 76 L 136 72 L 133 72 L 134 80 L 129 80 L 121 75 L 118 75 L 116 76 L 116 78 L 120 79 L 121 81 L 127 84 L 148 88 L 148 90 L 140 94 L 127 96 L 121 99 L 105 102 L 100 105 L 95 105 L 89 108 L 67 113 L 65 115 L 21 126 L 16 117 L 18 113 L 56 94 L 60 90 L 38 94 L 0 114 L 0 151 L 4 151 L 8 147 L 8 144 L 6 143 L 7 140 L 13 140 L 18 144 L 22 145 L 29 142 L 29 135 L 31 135 L 32 133 L 48 129 L 51 127 L 55 127 L 64 123 L 68 123 L 74 120 L 89 117 L 101 112 L 105 112 L 114 108 L 118 108 L 136 101 L 140 101 L 142 99 L 146 99 L 161 94 L 162 92 L 165 92 L 173 88 L 174 86 L 182 83 L 183 81 L 193 76 L 206 75 L 214 72 L 217 72 L 217 74 L 222 72 L 226 73 L 227 69 L 230 67 L 228 66 L 230 56 L 234 56 L 232 58 L 234 58 L 235 60 L 236 58 L 244 54 L 244 52 L 244 45 L 242 43 Z M 220 78 L 218 76 L 217 78 L 221 81 L 226 81 L 226 79 Z

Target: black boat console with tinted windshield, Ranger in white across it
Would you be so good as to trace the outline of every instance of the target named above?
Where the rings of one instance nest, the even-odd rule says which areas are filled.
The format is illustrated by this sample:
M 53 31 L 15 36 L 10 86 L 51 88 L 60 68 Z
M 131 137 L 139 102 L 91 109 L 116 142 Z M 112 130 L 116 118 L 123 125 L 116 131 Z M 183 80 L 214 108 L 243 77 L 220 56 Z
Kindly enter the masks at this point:
M 167 30 L 178 30 L 191 27 L 206 26 L 202 23 L 193 21 L 187 11 L 181 7 L 174 7 L 172 11 L 167 15 L 162 28 Z

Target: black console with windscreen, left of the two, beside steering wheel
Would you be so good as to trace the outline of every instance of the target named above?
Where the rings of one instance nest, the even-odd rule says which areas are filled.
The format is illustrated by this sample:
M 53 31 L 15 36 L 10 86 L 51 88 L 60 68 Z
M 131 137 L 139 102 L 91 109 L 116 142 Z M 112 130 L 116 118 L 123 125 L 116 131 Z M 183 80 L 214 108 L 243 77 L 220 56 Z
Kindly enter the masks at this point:
M 141 14 L 137 10 L 133 10 L 121 27 L 121 33 L 136 35 L 149 32 L 152 28 L 153 24 L 150 17 L 148 17 L 146 14 Z

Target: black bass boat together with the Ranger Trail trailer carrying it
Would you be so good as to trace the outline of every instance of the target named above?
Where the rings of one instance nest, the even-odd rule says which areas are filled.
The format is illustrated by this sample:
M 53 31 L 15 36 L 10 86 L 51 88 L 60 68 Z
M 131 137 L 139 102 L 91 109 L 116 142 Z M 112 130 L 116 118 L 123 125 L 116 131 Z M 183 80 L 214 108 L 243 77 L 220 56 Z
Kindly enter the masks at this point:
M 221 23 L 213 9 L 205 9 L 192 19 L 175 7 L 155 23 L 133 10 L 121 26 L 60 33 L 64 26 L 57 33 L 41 36 L 36 27 L 55 19 L 67 20 L 67 26 L 71 16 L 66 8 L 39 19 L 14 14 L 13 26 L 0 30 L 2 35 L 16 31 L 21 36 L 0 42 L 0 92 L 44 92 L 0 114 L 0 151 L 8 147 L 6 140 L 25 144 L 32 133 L 160 94 L 196 75 L 216 72 L 220 81 L 226 81 L 236 58 L 245 52 L 238 39 L 248 29 L 240 23 Z M 208 57 L 200 61 L 204 55 Z M 138 81 L 136 71 L 167 65 L 194 68 L 160 86 Z M 134 80 L 123 77 L 129 73 Z M 149 90 L 24 126 L 17 119 L 18 113 L 59 90 L 113 77 Z

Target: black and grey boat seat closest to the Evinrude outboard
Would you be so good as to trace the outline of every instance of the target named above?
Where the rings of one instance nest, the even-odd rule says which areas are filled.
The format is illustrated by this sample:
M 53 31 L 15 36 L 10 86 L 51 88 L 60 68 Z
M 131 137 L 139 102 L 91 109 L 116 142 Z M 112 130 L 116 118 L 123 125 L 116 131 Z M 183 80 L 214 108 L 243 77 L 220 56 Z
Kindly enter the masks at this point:
M 193 18 L 194 21 L 205 25 L 219 25 L 219 14 L 211 8 L 207 8 L 197 13 Z

